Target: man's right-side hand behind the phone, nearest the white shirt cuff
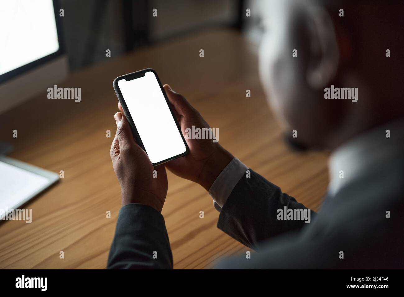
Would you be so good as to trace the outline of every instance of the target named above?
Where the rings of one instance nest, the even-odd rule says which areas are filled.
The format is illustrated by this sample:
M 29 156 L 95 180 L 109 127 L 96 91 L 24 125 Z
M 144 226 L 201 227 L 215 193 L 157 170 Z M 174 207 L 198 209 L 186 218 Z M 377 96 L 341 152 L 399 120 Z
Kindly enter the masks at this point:
M 185 137 L 185 129 L 210 128 L 200 113 L 194 109 L 180 94 L 174 92 L 170 86 L 164 85 L 168 100 L 171 102 L 177 121 L 181 126 Z M 118 103 L 122 111 L 122 106 Z M 217 176 L 230 163 L 233 156 L 227 152 L 218 142 L 212 139 L 186 139 L 189 153 L 181 158 L 167 162 L 165 165 L 174 174 L 197 182 L 207 191 L 216 180 Z

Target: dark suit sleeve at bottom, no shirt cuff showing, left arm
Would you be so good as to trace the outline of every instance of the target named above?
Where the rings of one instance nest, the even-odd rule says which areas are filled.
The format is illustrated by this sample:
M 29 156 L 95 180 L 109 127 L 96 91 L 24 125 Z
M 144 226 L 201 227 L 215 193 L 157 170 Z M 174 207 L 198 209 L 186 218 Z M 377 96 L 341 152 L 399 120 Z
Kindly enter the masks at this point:
M 164 218 L 156 209 L 138 203 L 121 208 L 107 268 L 173 268 Z

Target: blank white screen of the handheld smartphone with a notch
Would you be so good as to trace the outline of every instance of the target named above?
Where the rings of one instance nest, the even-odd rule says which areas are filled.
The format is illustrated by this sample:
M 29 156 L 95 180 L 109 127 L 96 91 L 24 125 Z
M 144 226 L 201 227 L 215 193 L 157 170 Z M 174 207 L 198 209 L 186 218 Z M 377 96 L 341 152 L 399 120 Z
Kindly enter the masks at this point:
M 118 87 L 151 163 L 185 153 L 185 144 L 153 72 L 129 81 L 121 79 Z

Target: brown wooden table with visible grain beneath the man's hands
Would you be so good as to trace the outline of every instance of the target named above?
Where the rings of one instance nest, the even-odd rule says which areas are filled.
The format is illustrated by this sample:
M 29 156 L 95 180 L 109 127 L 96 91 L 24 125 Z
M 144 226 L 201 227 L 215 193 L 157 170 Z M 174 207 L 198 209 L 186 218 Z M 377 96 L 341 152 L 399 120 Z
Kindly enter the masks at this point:
M 204 49 L 204 57 L 199 50 Z M 0 223 L 0 268 L 105 268 L 120 209 L 109 148 L 114 137 L 118 75 L 151 67 L 220 129 L 220 143 L 247 166 L 311 209 L 326 190 L 326 155 L 291 153 L 266 105 L 257 48 L 235 31 L 207 31 L 143 48 L 70 75 L 58 87 L 80 87 L 81 102 L 40 96 L 0 117 L 11 157 L 64 178 L 25 205 L 33 221 Z M 23 88 L 23 86 L 21 86 Z M 246 90 L 251 98 L 246 98 Z M 18 138 L 13 138 L 13 130 Z M 112 138 L 106 137 L 110 130 Z M 174 268 L 209 268 L 248 250 L 217 229 L 219 213 L 198 184 L 168 172 L 163 215 Z M 199 211 L 204 218 L 199 218 Z M 106 212 L 111 211 L 111 218 Z M 64 252 L 64 259 L 59 252 Z

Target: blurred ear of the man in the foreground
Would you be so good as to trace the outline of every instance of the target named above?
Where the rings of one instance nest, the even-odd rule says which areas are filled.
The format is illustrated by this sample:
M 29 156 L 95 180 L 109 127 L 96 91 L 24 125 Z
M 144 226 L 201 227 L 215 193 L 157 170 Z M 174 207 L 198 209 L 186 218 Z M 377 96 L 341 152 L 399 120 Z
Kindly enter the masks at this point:
M 307 8 L 309 65 L 307 83 L 311 88 L 324 88 L 337 74 L 338 44 L 328 12 L 319 6 Z

